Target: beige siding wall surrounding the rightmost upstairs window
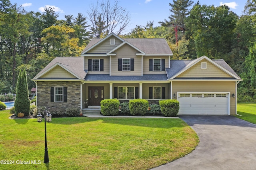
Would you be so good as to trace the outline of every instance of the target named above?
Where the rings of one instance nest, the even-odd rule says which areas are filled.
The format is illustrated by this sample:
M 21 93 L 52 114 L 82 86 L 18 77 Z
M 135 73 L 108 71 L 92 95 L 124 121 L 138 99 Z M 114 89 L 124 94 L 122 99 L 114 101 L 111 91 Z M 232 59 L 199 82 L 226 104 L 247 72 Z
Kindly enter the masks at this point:
M 168 56 L 144 56 L 143 57 L 143 74 L 166 74 L 166 71 L 149 71 L 149 59 L 165 59 L 164 65 L 165 68 L 169 66 L 169 57 Z

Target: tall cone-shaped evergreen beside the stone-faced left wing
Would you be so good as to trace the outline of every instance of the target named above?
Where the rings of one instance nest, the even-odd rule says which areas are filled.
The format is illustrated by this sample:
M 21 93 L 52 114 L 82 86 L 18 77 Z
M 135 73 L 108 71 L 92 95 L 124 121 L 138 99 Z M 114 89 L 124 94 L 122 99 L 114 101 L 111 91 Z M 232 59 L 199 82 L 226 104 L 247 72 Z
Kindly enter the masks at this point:
M 28 98 L 28 82 L 25 70 L 23 70 L 23 72 L 20 70 L 19 72 L 14 107 L 16 115 L 18 115 L 18 113 L 29 115 L 30 100 Z

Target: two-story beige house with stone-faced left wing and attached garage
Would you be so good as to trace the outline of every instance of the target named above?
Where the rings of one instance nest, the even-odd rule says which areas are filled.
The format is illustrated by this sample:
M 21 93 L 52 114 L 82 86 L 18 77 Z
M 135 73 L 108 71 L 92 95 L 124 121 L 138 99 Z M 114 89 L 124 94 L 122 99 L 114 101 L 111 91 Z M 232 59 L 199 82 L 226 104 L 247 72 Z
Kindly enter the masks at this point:
M 236 114 L 241 78 L 223 60 L 170 60 L 165 39 L 92 39 L 82 57 L 56 57 L 33 80 L 37 106 L 98 107 L 103 99 L 177 99 L 179 114 Z

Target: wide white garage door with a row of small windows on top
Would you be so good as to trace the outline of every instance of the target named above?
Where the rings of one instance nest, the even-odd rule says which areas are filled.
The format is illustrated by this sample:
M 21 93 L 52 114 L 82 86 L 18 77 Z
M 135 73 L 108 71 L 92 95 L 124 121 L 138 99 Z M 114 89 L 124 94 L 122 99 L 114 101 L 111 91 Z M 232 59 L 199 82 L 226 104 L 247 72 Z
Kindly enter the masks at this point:
M 229 93 L 178 92 L 179 114 L 229 115 Z

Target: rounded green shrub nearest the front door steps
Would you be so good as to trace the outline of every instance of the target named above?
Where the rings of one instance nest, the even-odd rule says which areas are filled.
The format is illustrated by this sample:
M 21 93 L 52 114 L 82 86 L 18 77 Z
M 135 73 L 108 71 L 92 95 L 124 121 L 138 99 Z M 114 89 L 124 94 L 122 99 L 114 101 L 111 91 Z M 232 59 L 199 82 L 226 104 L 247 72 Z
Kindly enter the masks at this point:
M 117 99 L 102 100 L 100 102 L 100 111 L 104 116 L 117 115 L 119 104 L 120 102 Z

